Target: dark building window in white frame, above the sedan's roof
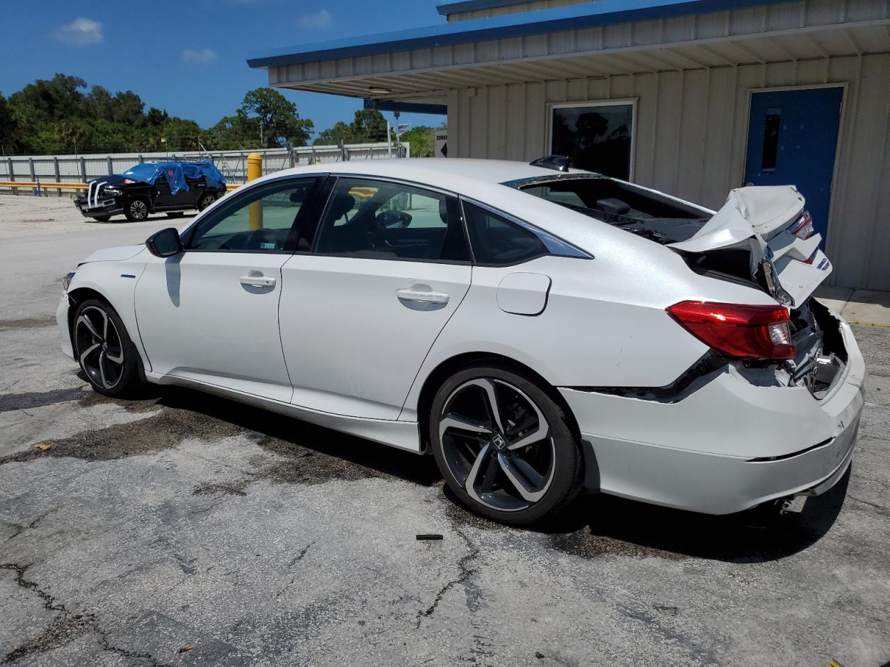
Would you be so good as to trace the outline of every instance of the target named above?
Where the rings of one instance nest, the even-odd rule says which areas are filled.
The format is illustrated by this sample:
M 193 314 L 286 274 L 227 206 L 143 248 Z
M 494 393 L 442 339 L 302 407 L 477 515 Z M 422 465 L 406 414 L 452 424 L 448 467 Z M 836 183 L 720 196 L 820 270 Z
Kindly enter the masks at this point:
M 634 105 L 556 106 L 550 118 L 551 152 L 571 158 L 578 169 L 630 181 Z

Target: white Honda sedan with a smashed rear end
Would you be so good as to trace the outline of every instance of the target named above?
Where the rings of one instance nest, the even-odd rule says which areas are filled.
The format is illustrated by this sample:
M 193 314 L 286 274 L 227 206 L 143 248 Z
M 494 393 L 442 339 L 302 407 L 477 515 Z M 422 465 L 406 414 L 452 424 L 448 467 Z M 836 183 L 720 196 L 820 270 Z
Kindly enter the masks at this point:
M 853 457 L 865 366 L 811 298 L 820 243 L 792 187 L 715 212 L 559 157 L 342 162 L 93 253 L 57 317 L 102 394 L 185 385 L 432 453 L 499 521 L 584 488 L 724 514 Z

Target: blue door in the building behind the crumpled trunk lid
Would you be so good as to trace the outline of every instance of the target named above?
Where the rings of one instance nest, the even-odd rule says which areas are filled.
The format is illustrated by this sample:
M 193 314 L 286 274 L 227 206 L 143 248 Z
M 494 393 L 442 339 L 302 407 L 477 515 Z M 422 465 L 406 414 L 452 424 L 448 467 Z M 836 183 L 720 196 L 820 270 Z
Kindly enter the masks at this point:
M 794 185 L 825 245 L 844 89 L 751 95 L 745 185 Z

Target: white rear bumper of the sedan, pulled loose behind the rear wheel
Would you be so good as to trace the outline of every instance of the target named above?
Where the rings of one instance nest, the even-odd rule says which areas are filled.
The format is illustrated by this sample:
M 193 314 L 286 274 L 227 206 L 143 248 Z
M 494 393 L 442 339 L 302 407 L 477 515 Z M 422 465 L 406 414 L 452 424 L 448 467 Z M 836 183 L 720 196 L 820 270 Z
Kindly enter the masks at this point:
M 730 373 L 676 403 L 561 389 L 599 490 L 708 514 L 827 491 L 853 459 L 866 380 L 849 325 L 837 329 L 847 363 L 821 400 Z

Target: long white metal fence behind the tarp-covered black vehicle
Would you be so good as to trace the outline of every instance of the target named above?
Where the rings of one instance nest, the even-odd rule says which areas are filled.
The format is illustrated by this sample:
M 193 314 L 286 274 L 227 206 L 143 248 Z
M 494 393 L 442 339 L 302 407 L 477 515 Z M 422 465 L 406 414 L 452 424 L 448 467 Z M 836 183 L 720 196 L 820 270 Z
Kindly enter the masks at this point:
M 318 165 L 343 160 L 373 160 L 396 157 L 396 149 L 386 142 L 346 144 L 339 146 L 305 146 L 294 149 L 222 150 L 176 153 L 110 153 L 102 155 L 15 156 L 0 157 L 0 181 L 41 181 L 53 194 L 50 185 L 85 183 L 109 173 L 121 173 L 135 164 L 161 160 L 212 160 L 229 183 L 247 181 L 247 156 L 263 155 L 263 174 L 279 172 L 297 165 Z M 401 144 L 403 157 L 410 155 L 408 142 Z M 28 193 L 32 189 L 3 188 L 0 193 Z

